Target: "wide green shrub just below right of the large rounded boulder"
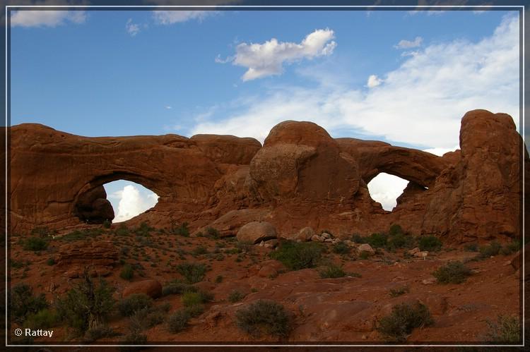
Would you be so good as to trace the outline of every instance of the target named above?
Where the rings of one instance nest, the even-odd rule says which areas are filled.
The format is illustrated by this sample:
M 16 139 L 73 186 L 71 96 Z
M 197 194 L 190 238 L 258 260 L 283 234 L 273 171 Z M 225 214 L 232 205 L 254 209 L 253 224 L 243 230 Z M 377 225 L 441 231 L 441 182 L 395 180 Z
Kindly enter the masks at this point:
M 283 241 L 270 256 L 283 262 L 290 270 L 300 270 L 316 266 L 322 257 L 322 251 L 319 243 Z

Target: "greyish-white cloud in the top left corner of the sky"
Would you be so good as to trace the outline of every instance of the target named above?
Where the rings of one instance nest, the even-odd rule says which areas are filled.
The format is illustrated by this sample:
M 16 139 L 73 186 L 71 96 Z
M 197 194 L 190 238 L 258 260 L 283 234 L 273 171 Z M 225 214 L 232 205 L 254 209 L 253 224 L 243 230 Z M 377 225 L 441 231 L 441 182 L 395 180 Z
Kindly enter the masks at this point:
M 11 27 L 56 27 L 66 22 L 81 24 L 85 11 L 19 10 L 11 13 Z

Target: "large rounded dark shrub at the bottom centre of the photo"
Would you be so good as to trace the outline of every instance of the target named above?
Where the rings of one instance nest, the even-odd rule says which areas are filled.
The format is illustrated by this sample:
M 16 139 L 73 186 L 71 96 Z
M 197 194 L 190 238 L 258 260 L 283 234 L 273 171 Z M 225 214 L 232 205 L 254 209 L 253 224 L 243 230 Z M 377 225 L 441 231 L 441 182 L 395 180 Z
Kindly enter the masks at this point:
M 237 327 L 252 336 L 270 334 L 280 337 L 290 332 L 290 317 L 283 305 L 274 301 L 259 300 L 235 313 Z

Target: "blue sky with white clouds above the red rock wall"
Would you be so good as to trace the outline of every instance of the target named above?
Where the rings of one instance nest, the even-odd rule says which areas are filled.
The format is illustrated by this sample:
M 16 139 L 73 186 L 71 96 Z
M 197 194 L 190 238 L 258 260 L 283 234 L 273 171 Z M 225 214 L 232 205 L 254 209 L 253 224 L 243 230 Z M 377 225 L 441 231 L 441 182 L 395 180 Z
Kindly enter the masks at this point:
M 333 137 L 440 154 L 457 147 L 466 111 L 507 112 L 518 125 L 518 107 L 514 11 L 11 15 L 11 125 L 262 141 L 294 119 Z M 394 197 L 389 184 L 396 183 L 384 179 L 372 195 Z

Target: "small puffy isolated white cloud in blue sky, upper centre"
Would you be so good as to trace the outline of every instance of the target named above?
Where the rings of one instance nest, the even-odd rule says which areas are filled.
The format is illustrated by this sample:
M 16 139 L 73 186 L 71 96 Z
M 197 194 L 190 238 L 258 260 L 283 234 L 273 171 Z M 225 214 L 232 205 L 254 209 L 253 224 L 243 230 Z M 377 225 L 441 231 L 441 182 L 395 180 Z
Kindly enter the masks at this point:
M 331 55 L 336 47 L 333 41 L 333 30 L 314 30 L 300 43 L 278 42 L 276 38 L 263 44 L 238 44 L 236 54 L 228 59 L 216 59 L 216 62 L 232 61 L 234 65 L 248 68 L 242 80 L 254 80 L 269 75 L 282 73 L 283 63 L 301 59 L 312 59 L 316 56 Z

